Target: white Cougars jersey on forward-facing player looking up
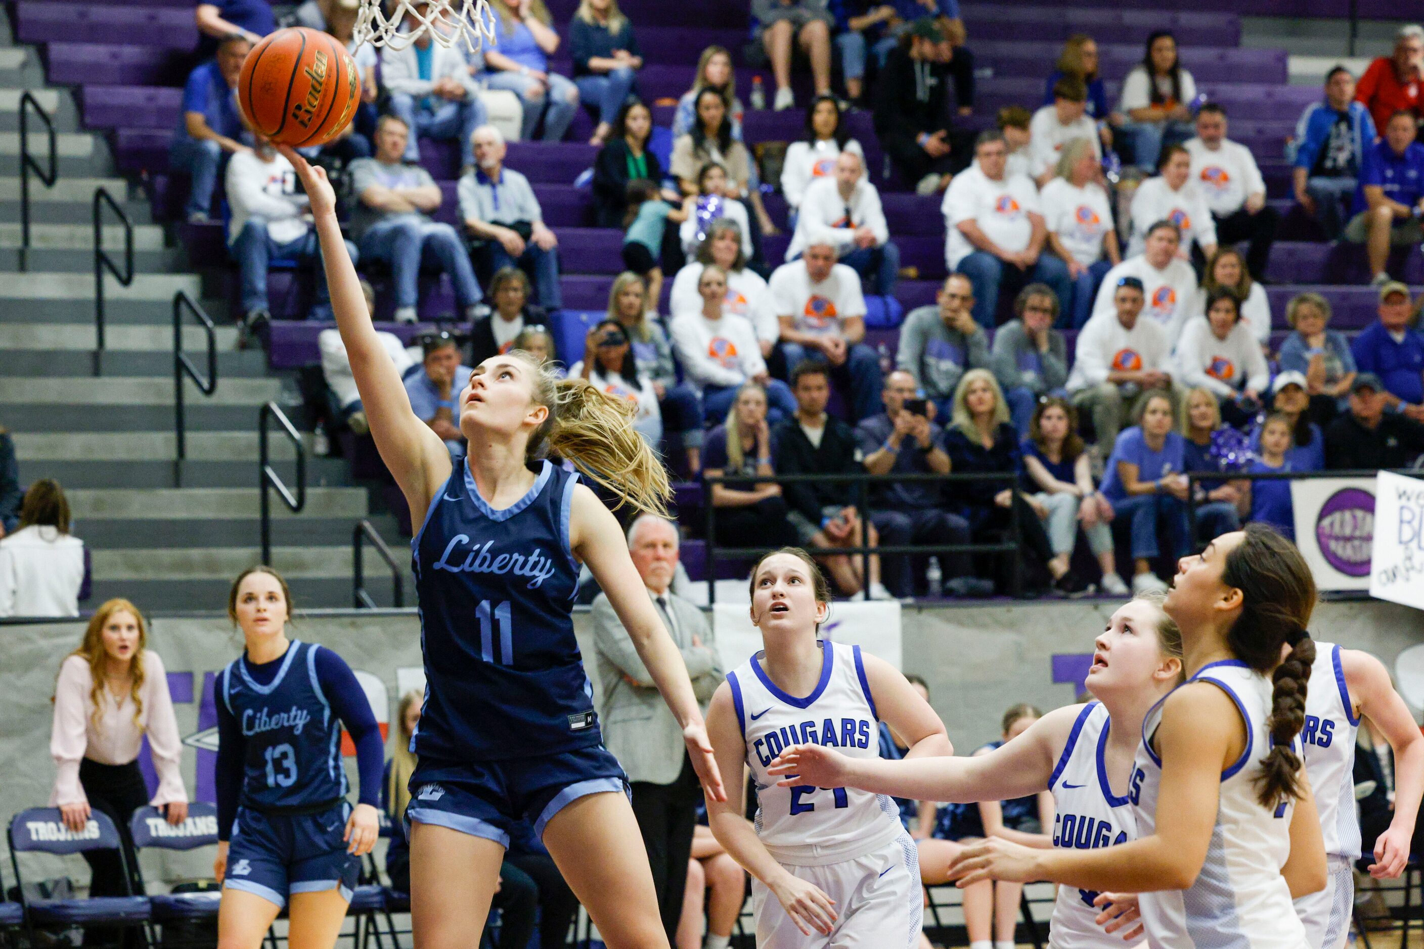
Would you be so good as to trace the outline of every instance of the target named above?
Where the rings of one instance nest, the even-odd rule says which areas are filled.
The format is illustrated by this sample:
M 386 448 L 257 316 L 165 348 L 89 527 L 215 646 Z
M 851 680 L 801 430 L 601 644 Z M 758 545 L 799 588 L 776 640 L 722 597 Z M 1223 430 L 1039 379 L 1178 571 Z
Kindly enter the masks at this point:
M 833 747 L 852 758 L 879 758 L 876 703 L 860 646 L 822 640 L 820 682 L 805 699 L 776 687 L 760 653 L 726 674 L 756 781 L 756 835 L 779 862 L 837 864 L 893 842 L 903 828 L 894 801 L 856 788 L 778 787 L 766 774 L 795 744 Z

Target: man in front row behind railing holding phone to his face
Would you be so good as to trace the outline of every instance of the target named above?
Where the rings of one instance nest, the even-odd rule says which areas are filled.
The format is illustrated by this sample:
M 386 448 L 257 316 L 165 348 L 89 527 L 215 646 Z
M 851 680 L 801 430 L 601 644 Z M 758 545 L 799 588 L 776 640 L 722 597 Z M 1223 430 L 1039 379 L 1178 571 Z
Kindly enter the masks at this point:
M 896 370 L 886 376 L 884 413 L 856 425 L 862 464 L 874 475 L 950 474 L 944 431 L 934 424 L 934 400 L 918 396 L 914 376 Z M 891 546 L 968 544 L 968 522 L 943 507 L 940 485 L 928 481 L 894 481 L 871 488 L 870 522 L 880 541 Z M 944 568 L 941 589 L 931 596 L 993 596 L 994 585 L 973 576 L 967 553 L 937 553 Z M 926 592 L 927 555 L 884 556 L 886 586 L 896 596 Z

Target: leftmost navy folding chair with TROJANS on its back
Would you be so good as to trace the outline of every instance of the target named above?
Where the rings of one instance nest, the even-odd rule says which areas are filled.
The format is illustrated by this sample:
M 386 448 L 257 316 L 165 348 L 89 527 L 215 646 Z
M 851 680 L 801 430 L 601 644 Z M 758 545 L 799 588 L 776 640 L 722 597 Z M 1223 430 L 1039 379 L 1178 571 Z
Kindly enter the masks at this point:
M 138 931 L 144 949 L 152 945 L 148 922 L 152 905 L 147 896 L 132 891 L 128 855 L 124 852 L 118 828 L 103 811 L 90 814 L 83 831 L 74 832 L 64 827 L 57 807 L 31 807 L 10 818 L 6 829 L 10 842 L 10 865 L 20 885 L 20 901 L 24 905 L 26 922 L 33 926 L 124 926 Z M 90 896 L 85 899 L 26 899 L 24 876 L 20 874 L 19 854 L 83 854 L 87 851 L 117 849 L 124 866 L 124 896 Z M 31 932 L 31 945 L 34 933 Z

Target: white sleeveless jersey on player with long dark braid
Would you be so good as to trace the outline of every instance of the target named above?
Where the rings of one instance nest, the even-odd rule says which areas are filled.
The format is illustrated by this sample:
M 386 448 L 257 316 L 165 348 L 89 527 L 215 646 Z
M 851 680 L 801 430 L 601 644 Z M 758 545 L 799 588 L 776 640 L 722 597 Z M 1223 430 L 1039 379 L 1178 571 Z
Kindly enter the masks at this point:
M 1270 750 L 1270 680 L 1235 659 L 1203 666 L 1192 676 L 1192 682 L 1199 680 L 1230 696 L 1246 723 L 1246 748 L 1222 771 L 1216 827 L 1196 882 L 1190 889 L 1141 894 L 1148 942 L 1152 949 L 1300 949 L 1306 931 L 1280 875 L 1290 855 L 1294 805 L 1287 801 L 1267 810 L 1256 800 L 1255 777 Z M 1165 701 L 1158 701 L 1142 723 L 1142 744 L 1132 767 L 1128 797 L 1138 838 L 1156 827 L 1162 760 L 1151 738 Z

